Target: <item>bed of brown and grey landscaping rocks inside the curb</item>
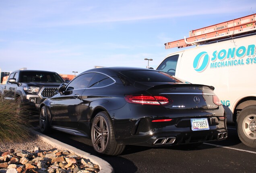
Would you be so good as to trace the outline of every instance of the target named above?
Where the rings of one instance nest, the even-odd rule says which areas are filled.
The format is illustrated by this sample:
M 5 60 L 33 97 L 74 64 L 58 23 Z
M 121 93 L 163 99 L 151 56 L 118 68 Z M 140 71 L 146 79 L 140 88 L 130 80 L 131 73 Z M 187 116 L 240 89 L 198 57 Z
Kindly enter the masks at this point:
M 0 151 L 0 173 L 97 173 L 99 166 L 69 151 L 39 147 Z

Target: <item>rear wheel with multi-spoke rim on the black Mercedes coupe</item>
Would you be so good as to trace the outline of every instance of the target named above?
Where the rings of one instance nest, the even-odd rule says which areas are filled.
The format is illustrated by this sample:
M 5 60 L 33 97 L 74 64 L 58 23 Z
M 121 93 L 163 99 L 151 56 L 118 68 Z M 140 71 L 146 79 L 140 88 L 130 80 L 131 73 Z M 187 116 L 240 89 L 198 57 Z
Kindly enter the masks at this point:
M 93 119 L 91 140 L 97 153 L 105 155 L 120 155 L 125 145 L 116 142 L 114 128 L 105 111 L 99 112 Z

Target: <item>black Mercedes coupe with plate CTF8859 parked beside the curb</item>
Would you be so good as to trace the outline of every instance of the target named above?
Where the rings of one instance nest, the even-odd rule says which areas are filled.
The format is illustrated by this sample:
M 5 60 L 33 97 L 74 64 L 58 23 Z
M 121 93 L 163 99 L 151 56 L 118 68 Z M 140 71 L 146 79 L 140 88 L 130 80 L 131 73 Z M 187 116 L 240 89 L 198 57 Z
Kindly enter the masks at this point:
M 125 145 L 162 147 L 227 138 L 214 87 L 147 68 L 87 70 L 40 105 L 42 133 L 51 128 L 91 137 L 95 151 L 119 155 Z

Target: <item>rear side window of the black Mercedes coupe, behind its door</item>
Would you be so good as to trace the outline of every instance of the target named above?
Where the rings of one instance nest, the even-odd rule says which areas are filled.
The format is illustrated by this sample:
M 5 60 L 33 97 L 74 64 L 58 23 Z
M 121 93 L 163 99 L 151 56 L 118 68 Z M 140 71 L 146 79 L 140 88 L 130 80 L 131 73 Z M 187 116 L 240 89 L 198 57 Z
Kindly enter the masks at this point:
M 114 82 L 115 81 L 108 76 L 101 73 L 96 73 L 91 80 L 88 88 L 105 87 L 109 84 L 113 84 Z

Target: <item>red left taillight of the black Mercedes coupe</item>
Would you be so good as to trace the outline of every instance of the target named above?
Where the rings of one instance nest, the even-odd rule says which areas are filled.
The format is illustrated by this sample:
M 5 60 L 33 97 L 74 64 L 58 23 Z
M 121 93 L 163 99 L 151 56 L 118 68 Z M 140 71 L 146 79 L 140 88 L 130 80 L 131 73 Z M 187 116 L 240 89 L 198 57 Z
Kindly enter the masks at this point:
M 163 96 L 149 95 L 128 95 L 124 97 L 128 103 L 136 103 L 141 105 L 165 105 L 169 103 L 169 99 Z

